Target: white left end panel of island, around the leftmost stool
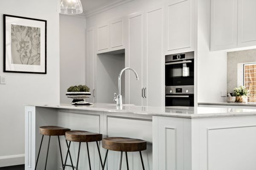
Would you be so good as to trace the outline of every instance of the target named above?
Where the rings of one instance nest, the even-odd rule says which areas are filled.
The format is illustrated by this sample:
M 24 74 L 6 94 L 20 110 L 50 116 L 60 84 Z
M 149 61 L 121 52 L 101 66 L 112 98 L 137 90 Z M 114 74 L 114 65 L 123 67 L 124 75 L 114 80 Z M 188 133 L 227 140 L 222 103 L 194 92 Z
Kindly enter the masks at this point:
M 34 170 L 42 136 L 39 127 L 57 125 L 57 110 L 35 106 L 25 107 L 25 170 Z M 44 169 L 49 136 L 44 136 L 37 169 Z M 51 137 L 47 168 L 56 169 L 57 140 Z

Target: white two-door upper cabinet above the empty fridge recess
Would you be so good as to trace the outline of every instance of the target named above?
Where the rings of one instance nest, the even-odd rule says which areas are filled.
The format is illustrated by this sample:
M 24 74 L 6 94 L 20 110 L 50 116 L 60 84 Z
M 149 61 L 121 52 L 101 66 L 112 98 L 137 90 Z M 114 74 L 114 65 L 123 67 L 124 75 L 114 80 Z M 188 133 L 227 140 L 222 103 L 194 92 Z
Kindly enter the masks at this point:
M 99 25 L 97 54 L 124 49 L 125 26 L 124 17 Z

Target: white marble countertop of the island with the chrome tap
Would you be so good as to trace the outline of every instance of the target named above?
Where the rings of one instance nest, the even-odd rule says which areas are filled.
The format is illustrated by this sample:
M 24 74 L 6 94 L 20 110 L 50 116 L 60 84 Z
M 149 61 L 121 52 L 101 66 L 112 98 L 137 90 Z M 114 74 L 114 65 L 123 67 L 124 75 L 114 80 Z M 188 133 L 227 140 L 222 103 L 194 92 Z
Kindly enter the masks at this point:
M 34 104 L 44 108 L 74 109 L 85 111 L 103 111 L 115 113 L 132 113 L 152 116 L 169 116 L 182 118 L 204 118 L 204 117 L 224 117 L 224 116 L 256 116 L 256 109 L 238 108 L 209 108 L 209 107 L 145 107 L 135 105 L 123 105 L 117 108 L 115 104 L 94 103 L 89 106 L 74 106 L 71 104 Z

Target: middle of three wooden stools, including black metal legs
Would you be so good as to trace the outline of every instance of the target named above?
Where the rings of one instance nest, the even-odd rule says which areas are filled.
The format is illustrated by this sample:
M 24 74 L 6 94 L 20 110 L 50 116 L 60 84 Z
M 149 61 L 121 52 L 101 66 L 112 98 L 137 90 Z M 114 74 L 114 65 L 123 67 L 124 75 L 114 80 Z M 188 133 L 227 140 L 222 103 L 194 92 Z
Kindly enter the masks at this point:
M 67 131 L 66 132 L 66 140 L 70 141 L 69 144 L 68 144 L 67 156 L 68 156 L 68 153 L 70 152 L 70 143 L 71 142 L 79 142 L 76 170 L 78 169 L 81 142 L 86 142 L 86 144 L 87 144 L 87 153 L 88 153 L 88 160 L 89 160 L 90 170 L 91 170 L 91 164 L 90 164 L 90 154 L 89 154 L 88 142 L 96 142 L 97 143 L 100 163 L 101 163 L 101 166 L 103 166 L 102 165 L 102 158 L 101 158 L 100 151 L 99 151 L 99 144 L 98 144 L 98 141 L 102 140 L 102 134 L 87 132 L 87 131 L 82 131 L 82 130 L 72 130 L 72 131 Z M 64 169 L 63 170 L 65 170 L 65 165 L 66 165 L 66 162 L 67 162 L 67 156 L 66 156 L 66 159 L 65 159 L 65 164 L 64 164 Z

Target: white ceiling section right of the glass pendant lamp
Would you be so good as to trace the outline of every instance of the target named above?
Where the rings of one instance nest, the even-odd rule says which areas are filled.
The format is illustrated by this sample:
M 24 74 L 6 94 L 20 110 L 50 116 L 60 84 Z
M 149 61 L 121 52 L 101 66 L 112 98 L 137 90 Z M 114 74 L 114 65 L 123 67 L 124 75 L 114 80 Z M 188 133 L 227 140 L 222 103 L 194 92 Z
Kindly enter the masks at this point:
M 84 13 L 87 13 L 88 11 L 98 8 L 102 5 L 105 5 L 112 0 L 81 0 Z

